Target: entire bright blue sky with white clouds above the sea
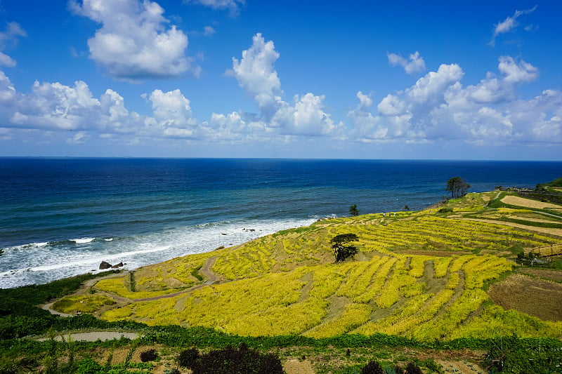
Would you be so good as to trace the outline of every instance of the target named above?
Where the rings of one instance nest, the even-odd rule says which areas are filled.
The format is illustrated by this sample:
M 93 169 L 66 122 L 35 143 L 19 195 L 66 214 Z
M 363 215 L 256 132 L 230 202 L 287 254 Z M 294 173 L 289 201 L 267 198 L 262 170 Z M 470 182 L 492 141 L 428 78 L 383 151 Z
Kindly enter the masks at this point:
M 558 1 L 0 1 L 0 156 L 562 159 Z

